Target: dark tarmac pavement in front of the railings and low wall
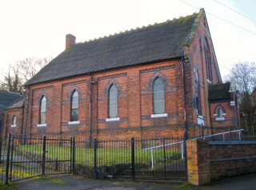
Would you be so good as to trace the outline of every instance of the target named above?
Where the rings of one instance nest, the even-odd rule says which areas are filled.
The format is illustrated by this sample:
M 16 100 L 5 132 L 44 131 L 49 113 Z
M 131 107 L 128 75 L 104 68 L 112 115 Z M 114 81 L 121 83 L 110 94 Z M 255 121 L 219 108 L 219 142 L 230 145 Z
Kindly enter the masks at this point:
M 84 176 L 71 174 L 35 177 L 20 180 L 10 185 L 18 190 L 148 190 L 148 189 L 190 189 L 190 190 L 254 190 L 256 189 L 256 173 L 214 181 L 200 187 L 191 184 L 166 184 L 132 180 L 92 180 Z M 1 188 L 0 188 L 1 189 Z M 5 188 L 6 189 L 6 188 Z

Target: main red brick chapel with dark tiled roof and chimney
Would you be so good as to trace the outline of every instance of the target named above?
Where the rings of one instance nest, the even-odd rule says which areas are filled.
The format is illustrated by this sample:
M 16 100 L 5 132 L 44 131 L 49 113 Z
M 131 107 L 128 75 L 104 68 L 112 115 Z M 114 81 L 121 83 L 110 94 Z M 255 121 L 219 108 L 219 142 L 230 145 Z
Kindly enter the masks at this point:
M 205 11 L 75 43 L 26 83 L 22 133 L 121 138 L 210 126 L 222 83 Z

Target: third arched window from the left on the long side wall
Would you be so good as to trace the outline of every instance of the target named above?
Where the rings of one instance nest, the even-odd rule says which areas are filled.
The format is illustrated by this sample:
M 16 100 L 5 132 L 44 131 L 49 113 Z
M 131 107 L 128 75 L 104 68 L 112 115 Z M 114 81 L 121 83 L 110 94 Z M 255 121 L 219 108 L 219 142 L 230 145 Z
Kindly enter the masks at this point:
M 109 89 L 109 117 L 118 117 L 118 88 L 111 85 Z

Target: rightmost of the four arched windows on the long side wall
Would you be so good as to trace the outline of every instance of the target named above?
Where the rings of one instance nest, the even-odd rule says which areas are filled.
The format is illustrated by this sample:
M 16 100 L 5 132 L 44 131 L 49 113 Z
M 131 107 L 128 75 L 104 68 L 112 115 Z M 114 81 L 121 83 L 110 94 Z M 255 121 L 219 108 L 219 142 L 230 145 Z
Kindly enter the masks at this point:
M 166 112 L 165 85 L 161 77 L 157 77 L 153 85 L 154 93 L 154 114 Z

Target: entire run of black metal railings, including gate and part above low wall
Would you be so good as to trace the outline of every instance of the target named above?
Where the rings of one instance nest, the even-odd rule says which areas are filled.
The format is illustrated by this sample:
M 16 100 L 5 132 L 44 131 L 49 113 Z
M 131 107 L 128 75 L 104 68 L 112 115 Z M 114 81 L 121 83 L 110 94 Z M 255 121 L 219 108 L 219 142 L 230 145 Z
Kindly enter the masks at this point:
M 93 139 L 10 134 L 0 138 L 1 182 L 56 173 L 95 179 L 186 180 L 186 141 L 254 141 L 235 127 L 195 126 L 181 137 Z

